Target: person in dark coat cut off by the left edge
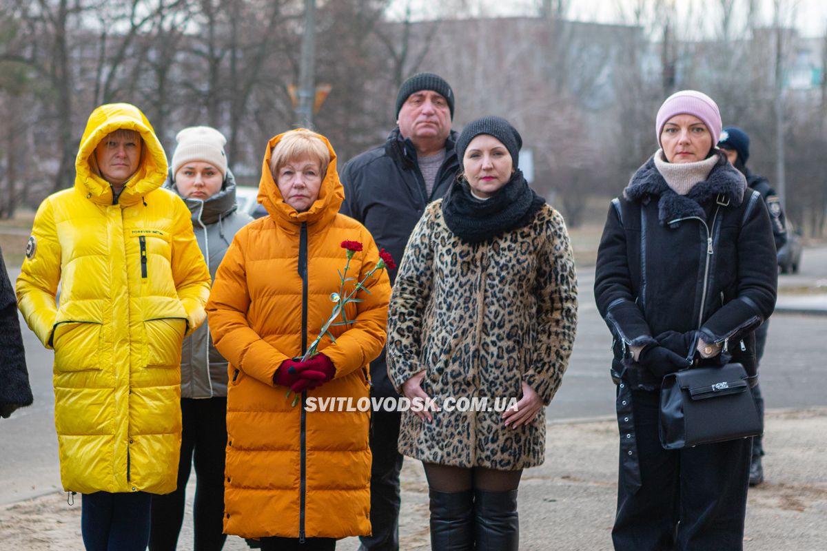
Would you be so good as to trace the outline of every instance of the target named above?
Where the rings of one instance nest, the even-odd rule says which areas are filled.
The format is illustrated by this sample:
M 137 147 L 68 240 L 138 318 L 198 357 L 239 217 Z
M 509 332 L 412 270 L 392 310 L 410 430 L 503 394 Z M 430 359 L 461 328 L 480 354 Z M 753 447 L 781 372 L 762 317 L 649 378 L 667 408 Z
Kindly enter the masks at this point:
M 30 406 L 31 401 L 17 299 L 0 251 L 0 417 L 12 415 L 18 407 Z

